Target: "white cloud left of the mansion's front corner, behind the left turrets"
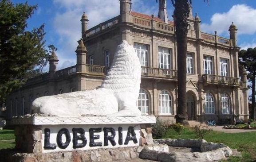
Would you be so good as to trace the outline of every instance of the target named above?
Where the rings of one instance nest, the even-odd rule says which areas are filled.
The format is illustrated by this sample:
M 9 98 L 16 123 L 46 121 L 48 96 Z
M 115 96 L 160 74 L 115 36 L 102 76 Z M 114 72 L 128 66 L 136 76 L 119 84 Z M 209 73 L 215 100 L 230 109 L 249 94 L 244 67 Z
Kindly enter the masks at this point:
M 75 49 L 81 38 L 81 16 L 86 12 L 88 28 L 119 14 L 118 0 L 54 0 L 60 11 L 55 14 L 53 25 L 59 38 L 57 46 L 58 69 L 75 65 Z

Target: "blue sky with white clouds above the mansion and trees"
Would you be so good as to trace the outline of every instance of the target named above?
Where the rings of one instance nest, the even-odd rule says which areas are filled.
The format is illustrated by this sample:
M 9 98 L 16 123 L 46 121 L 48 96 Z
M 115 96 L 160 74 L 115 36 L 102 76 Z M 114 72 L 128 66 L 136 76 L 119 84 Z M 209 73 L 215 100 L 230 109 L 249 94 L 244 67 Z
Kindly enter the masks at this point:
M 76 63 L 77 41 L 81 38 L 81 16 L 88 16 L 88 27 L 119 15 L 119 0 L 12 0 L 14 4 L 38 4 L 28 19 L 28 30 L 45 24 L 45 45 L 58 48 L 57 69 Z M 205 0 L 206 1 L 206 0 Z M 193 15 L 201 19 L 201 31 L 229 38 L 228 28 L 232 22 L 238 28 L 238 45 L 241 49 L 256 47 L 256 0 L 192 0 Z M 172 20 L 173 6 L 167 0 L 168 17 Z M 156 0 L 132 0 L 132 11 L 158 15 Z M 43 71 L 48 71 L 46 66 Z

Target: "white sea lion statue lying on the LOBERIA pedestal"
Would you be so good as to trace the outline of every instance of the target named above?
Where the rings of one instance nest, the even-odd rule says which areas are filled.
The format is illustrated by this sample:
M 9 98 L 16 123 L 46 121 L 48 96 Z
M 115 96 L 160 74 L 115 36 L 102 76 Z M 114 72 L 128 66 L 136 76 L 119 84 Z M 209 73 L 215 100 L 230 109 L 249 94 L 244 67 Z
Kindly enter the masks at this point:
M 32 112 L 61 117 L 141 116 L 136 106 L 140 83 L 138 56 L 122 41 L 99 89 L 39 97 L 32 103 Z

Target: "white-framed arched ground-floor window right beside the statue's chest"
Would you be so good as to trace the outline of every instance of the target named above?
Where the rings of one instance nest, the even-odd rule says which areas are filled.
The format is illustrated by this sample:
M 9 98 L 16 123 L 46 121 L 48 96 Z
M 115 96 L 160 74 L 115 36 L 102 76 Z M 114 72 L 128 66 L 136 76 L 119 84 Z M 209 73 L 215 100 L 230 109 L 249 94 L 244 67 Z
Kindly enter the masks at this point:
M 144 89 L 140 89 L 137 106 L 138 109 L 141 110 L 142 114 L 149 113 L 149 95 Z

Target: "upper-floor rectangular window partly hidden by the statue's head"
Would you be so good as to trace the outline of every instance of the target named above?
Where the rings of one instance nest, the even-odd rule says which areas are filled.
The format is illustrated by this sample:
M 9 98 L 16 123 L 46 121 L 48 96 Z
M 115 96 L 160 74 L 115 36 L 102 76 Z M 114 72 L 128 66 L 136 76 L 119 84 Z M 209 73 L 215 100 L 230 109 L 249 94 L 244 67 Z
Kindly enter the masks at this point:
M 134 49 L 141 62 L 141 66 L 148 66 L 148 46 L 134 43 Z

